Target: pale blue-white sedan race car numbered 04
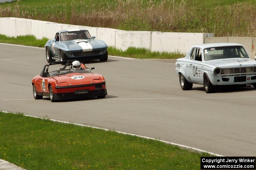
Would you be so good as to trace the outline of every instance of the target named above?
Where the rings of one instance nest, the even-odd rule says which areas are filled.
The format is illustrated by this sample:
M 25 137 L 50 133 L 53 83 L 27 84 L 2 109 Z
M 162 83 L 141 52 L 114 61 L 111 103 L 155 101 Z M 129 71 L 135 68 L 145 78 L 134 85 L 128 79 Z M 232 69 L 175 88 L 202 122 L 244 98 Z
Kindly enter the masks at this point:
M 193 45 L 186 57 L 177 59 L 176 73 L 183 90 L 193 83 L 213 93 L 216 85 L 253 85 L 256 88 L 256 60 L 249 58 L 241 44 Z

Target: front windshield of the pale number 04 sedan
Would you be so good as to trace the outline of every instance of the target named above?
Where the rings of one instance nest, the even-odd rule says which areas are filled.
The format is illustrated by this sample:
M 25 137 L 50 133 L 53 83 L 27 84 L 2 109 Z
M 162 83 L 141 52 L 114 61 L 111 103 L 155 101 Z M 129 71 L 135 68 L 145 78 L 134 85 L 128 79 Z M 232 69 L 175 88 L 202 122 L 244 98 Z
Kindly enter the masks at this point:
M 245 48 L 241 46 L 226 46 L 204 49 L 204 60 L 217 60 L 226 58 L 249 58 Z

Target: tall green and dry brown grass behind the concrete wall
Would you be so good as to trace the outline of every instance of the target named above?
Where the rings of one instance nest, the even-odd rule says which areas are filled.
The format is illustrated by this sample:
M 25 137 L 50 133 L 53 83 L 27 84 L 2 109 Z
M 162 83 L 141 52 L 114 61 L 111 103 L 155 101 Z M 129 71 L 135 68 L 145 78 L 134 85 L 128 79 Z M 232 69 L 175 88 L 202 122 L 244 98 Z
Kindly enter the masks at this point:
M 162 0 L 70 1 L 37 9 L 29 5 L 0 6 L 0 17 L 57 23 L 163 32 L 213 32 L 215 36 L 256 36 L 256 3 L 193 5 Z M 193 1 L 194 2 L 194 1 Z

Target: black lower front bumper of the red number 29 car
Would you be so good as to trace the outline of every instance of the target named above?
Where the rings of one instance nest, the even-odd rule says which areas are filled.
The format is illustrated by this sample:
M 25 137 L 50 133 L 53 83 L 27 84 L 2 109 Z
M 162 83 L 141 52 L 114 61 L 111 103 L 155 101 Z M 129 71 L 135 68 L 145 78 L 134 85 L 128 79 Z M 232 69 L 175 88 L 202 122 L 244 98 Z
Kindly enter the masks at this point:
M 89 97 L 105 96 L 108 95 L 107 89 L 92 90 L 87 93 L 77 94 L 77 93 L 54 93 L 54 100 L 69 100 L 69 99 L 82 99 Z

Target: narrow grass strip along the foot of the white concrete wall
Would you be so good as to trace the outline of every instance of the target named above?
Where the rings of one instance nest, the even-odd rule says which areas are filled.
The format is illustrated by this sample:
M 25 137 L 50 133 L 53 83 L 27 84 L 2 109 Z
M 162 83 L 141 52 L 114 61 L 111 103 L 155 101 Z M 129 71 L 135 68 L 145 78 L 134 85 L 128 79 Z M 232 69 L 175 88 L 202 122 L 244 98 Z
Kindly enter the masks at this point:
M 47 38 L 36 39 L 35 36 L 17 36 L 17 38 L 15 38 L 15 37 L 8 37 L 0 34 L 0 42 L 2 43 L 28 45 L 28 46 L 34 46 L 34 47 L 44 47 L 47 41 L 48 41 Z M 183 54 L 180 54 L 178 52 L 177 53 L 150 52 L 149 49 L 135 48 L 135 47 L 129 47 L 125 51 L 119 50 L 114 47 L 109 47 L 108 55 L 132 57 L 132 58 L 140 58 L 140 59 L 142 58 L 177 59 L 177 58 L 184 57 Z

